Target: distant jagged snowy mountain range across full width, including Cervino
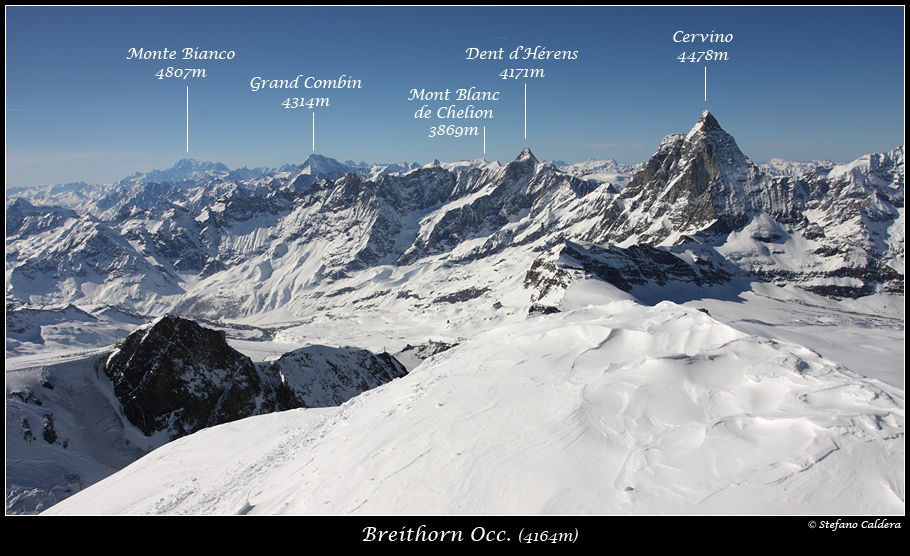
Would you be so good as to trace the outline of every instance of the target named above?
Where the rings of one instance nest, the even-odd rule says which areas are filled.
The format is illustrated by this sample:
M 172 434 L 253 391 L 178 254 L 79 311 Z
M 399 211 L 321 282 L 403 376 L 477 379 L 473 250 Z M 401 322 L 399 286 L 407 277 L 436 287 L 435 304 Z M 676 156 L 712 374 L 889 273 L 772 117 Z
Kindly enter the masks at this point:
M 605 167 L 612 181 L 586 178 Z M 295 305 L 350 287 L 344 280 L 369 268 L 566 241 L 619 254 L 637 245 L 824 295 L 903 291 L 902 147 L 775 168 L 753 164 L 707 112 L 631 175 L 593 161 L 569 173 L 529 149 L 504 165 L 419 168 L 313 155 L 293 169 L 245 172 L 252 177 L 184 160 L 106 187 L 12 191 L 7 301 L 305 314 Z M 402 282 L 388 294 L 408 291 Z

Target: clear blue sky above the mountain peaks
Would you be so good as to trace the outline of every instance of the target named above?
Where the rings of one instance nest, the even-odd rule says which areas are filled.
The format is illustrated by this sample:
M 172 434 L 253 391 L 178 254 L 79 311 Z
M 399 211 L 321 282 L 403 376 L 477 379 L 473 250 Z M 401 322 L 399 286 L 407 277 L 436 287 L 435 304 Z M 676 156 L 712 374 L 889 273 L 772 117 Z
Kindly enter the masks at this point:
M 733 41 L 677 43 L 677 31 Z M 520 46 L 577 58 L 466 59 L 472 47 Z M 127 60 L 130 48 L 235 56 Z M 727 60 L 677 59 L 705 50 Z M 206 76 L 155 78 L 169 66 Z M 503 80 L 507 68 L 544 77 Z M 250 87 L 297 75 L 298 89 Z M 362 88 L 302 87 L 340 75 Z M 527 145 L 544 160 L 636 163 L 705 109 L 755 162 L 850 161 L 903 144 L 904 78 L 902 6 L 7 7 L 6 183 L 108 183 L 185 157 L 300 163 L 314 152 L 314 114 L 315 152 L 341 161 L 505 162 Z M 412 89 L 470 87 L 499 100 L 408 100 Z M 330 106 L 286 109 L 289 97 Z M 423 104 L 434 116 L 473 104 L 493 118 L 417 119 Z M 429 137 L 440 124 L 478 135 Z

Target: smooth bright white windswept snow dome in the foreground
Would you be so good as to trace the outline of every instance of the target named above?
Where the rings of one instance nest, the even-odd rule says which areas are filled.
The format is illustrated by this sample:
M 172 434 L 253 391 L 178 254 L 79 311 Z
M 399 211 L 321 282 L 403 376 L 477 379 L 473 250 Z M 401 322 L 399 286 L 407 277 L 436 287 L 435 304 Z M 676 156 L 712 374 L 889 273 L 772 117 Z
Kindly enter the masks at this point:
M 574 284 L 562 313 L 171 442 L 46 513 L 904 514 L 902 388 L 610 292 Z

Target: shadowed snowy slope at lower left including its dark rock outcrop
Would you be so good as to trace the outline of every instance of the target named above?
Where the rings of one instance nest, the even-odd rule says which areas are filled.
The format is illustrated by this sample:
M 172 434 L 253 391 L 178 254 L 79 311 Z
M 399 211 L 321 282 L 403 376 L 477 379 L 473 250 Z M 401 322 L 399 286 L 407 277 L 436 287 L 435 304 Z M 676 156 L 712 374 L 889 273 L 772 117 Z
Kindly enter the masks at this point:
M 170 315 L 113 351 L 7 369 L 7 512 L 45 509 L 206 427 L 338 405 L 406 373 L 389 354 L 327 346 L 253 363 L 223 333 Z

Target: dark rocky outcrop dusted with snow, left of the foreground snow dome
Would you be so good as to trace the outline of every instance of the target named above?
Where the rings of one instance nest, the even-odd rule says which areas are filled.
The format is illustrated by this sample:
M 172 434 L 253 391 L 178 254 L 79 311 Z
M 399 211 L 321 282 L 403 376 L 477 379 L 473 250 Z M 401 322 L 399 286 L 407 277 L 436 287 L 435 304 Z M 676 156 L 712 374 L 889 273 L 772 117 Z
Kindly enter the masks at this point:
M 388 354 L 325 346 L 256 365 L 222 333 L 172 315 L 130 334 L 104 372 L 124 416 L 168 440 L 252 415 L 338 405 L 407 374 Z

